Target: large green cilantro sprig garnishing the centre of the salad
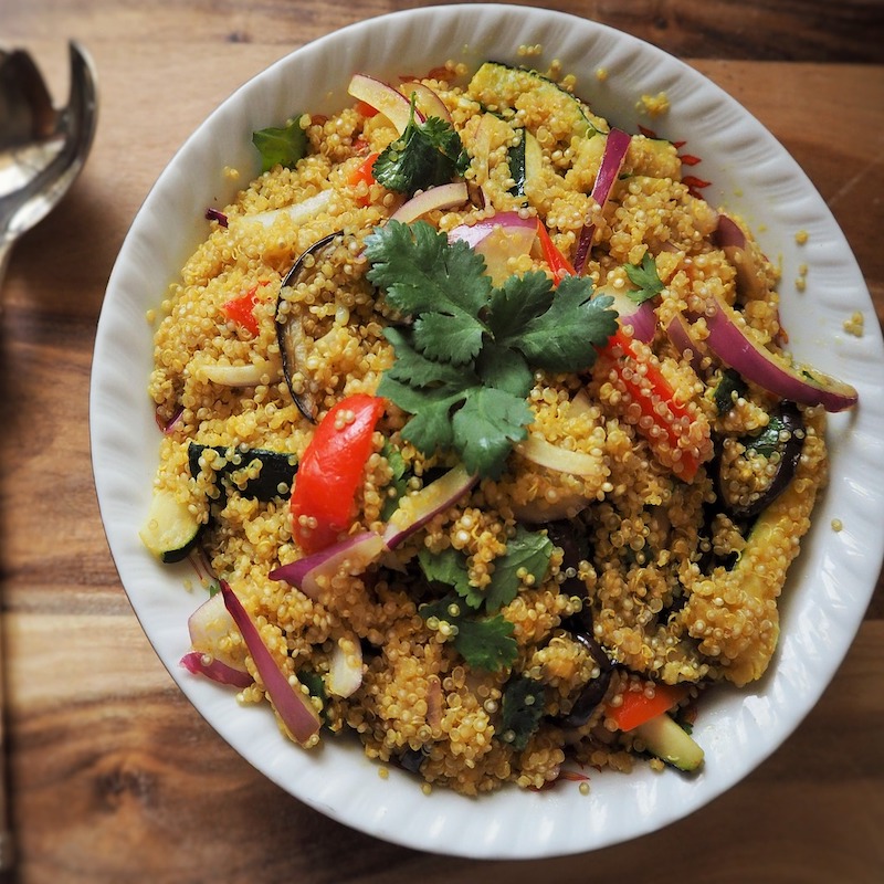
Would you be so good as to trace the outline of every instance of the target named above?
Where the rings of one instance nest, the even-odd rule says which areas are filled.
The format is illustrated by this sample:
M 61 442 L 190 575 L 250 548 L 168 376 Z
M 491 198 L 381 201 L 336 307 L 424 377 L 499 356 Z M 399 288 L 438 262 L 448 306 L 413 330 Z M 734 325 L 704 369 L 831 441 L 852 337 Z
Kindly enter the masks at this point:
M 540 272 L 495 287 L 484 259 L 430 224 L 397 221 L 366 241 L 368 278 L 409 322 L 389 327 L 396 361 L 378 394 L 411 414 L 402 435 L 424 454 L 453 450 L 471 473 L 496 478 L 533 420 L 534 372 L 580 371 L 617 330 L 610 297 Z

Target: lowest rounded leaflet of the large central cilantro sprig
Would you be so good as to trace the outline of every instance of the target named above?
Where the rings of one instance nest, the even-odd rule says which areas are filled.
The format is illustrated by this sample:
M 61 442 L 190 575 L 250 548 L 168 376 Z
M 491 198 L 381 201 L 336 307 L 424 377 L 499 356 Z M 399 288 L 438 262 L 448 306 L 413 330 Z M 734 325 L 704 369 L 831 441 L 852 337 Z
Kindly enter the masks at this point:
M 524 397 L 494 387 L 471 390 L 452 418 L 463 465 L 470 473 L 498 478 L 513 443 L 528 435 L 525 428 L 533 419 Z

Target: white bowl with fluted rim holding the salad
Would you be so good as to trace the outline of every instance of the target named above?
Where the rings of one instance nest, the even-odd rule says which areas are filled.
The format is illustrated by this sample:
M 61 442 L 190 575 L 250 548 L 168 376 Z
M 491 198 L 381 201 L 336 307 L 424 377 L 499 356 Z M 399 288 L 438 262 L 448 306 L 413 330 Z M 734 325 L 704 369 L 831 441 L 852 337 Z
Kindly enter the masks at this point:
M 227 688 L 179 666 L 194 597 L 186 565 L 159 565 L 138 539 L 157 465 L 158 435 L 146 388 L 151 334 L 145 312 L 207 234 L 203 212 L 224 204 L 224 166 L 257 172 L 251 133 L 296 110 L 334 110 L 356 71 L 414 73 L 448 59 L 525 63 L 523 45 L 559 59 L 579 76 L 593 109 L 634 131 L 639 123 L 687 139 L 713 181 L 711 202 L 741 213 L 770 255 L 781 257 L 782 315 L 793 350 L 860 391 L 860 406 L 830 423 L 831 485 L 814 514 L 782 600 L 782 638 L 767 676 L 745 691 L 713 693 L 694 730 L 706 751 L 699 776 L 639 768 L 591 772 L 541 793 L 507 788 L 481 799 L 441 789 L 424 796 L 391 769 L 381 779 L 355 743 L 328 739 L 305 753 L 284 739 L 269 707 L 241 708 Z M 604 69 L 608 78 L 596 76 Z M 665 92 L 667 115 L 636 112 L 643 94 Z M 227 192 L 225 192 L 227 191 Z M 796 232 L 806 230 L 806 245 Z M 806 264 L 807 292 L 792 281 Z M 774 137 L 693 69 L 632 36 L 591 21 L 526 7 L 430 7 L 345 28 L 273 64 L 225 101 L 188 139 L 138 212 L 110 277 L 98 324 L 91 419 L 95 482 L 107 539 L 131 604 L 181 690 L 215 730 L 259 770 L 307 804 L 355 829 L 440 853 L 539 857 L 589 851 L 685 817 L 772 753 L 810 711 L 853 640 L 873 591 L 884 536 L 884 346 L 876 322 L 862 338 L 842 324 L 874 318 L 862 275 L 825 203 Z M 144 390 L 144 394 L 139 391 Z M 831 527 L 843 523 L 841 532 Z

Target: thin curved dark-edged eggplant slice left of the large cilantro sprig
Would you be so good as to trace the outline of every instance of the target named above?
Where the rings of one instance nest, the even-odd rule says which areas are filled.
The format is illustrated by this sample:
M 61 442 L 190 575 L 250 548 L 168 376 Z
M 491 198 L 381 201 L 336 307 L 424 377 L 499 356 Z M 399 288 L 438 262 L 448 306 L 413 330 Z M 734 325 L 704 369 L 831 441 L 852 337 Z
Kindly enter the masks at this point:
M 282 309 L 285 303 L 284 292 L 286 288 L 294 288 L 301 283 L 306 283 L 315 272 L 315 267 L 322 263 L 326 254 L 330 254 L 339 244 L 344 233 L 337 231 L 317 240 L 295 261 L 292 270 L 285 274 L 280 285 L 280 297 L 276 301 L 276 339 L 280 343 L 280 354 L 283 360 L 283 375 L 292 393 L 292 399 L 297 406 L 298 411 L 311 422 L 316 421 L 318 411 L 317 385 L 316 381 L 306 375 L 306 361 L 309 355 L 304 328 L 301 317 L 292 315 L 292 311 Z M 303 378 L 298 382 L 296 376 Z

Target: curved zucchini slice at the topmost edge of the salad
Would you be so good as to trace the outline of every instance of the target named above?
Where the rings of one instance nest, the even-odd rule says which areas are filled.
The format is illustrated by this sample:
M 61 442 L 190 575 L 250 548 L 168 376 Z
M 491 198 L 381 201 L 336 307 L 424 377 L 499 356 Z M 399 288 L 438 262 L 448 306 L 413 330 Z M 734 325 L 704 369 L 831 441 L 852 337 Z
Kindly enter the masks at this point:
M 519 96 L 538 93 L 550 116 L 562 122 L 571 135 L 591 136 L 599 131 L 583 105 L 570 92 L 537 71 L 501 62 L 485 62 L 470 81 L 469 94 L 486 107 L 515 108 Z

